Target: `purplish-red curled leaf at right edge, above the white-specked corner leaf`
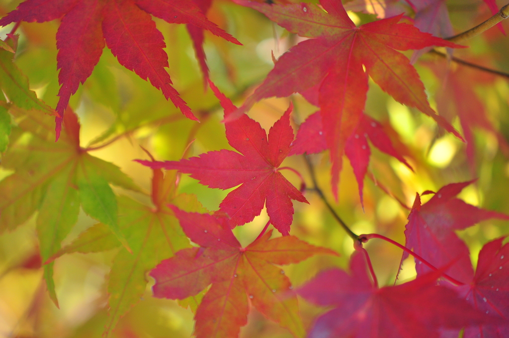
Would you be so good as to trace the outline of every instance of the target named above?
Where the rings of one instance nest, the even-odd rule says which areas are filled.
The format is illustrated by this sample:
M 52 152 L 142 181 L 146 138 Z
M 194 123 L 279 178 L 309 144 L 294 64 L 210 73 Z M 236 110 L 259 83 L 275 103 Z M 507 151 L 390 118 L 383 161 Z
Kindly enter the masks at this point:
M 405 230 L 407 248 L 413 249 L 417 255 L 436 267 L 456 262 L 445 273 L 465 284 L 470 283 L 474 274 L 470 252 L 454 231 L 489 218 L 509 219 L 508 215 L 479 209 L 455 198 L 472 182 L 448 184 L 422 206 L 417 194 Z M 403 259 L 407 257 L 408 253 L 403 253 Z M 430 268 L 419 263 L 415 269 L 418 275 L 430 271 Z

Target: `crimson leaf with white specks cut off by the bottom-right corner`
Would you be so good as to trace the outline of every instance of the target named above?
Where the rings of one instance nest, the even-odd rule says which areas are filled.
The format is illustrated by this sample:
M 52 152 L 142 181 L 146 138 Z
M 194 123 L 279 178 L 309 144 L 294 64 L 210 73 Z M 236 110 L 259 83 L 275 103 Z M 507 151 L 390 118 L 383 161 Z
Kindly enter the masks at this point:
M 499 325 L 471 325 L 464 338 L 501 338 L 509 336 L 509 244 L 505 237 L 483 246 L 479 252 L 475 276 L 468 284 L 454 287 L 462 298 L 479 311 L 502 319 Z M 442 338 L 456 338 L 458 330 L 442 333 Z

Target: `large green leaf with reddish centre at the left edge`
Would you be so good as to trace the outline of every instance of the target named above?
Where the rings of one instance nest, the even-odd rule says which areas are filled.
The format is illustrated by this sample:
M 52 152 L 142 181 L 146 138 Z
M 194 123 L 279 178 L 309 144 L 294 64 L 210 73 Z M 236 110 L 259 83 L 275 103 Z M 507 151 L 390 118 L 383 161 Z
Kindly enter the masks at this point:
M 37 233 L 41 257 L 46 261 L 60 250 L 81 206 L 88 215 L 107 224 L 128 247 L 120 232 L 117 198 L 109 183 L 140 190 L 119 167 L 79 146 L 80 125 L 74 112 L 68 109 L 65 137 L 55 143 L 54 117 L 14 105 L 9 111 L 17 127 L 13 128 L 2 166 L 14 173 L 0 181 L 0 233 L 15 229 L 39 211 Z M 46 265 L 44 276 L 50 297 L 58 306 L 52 269 L 53 264 Z

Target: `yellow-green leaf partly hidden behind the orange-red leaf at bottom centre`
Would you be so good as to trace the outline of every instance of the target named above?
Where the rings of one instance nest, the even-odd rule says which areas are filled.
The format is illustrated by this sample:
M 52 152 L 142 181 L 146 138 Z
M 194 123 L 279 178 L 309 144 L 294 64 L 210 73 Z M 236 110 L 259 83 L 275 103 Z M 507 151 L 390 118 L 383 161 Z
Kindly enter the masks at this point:
M 109 273 L 109 318 L 104 336 L 111 336 L 119 319 L 143 296 L 147 288 L 146 274 L 175 252 L 191 247 L 178 219 L 168 204 L 189 212 L 207 212 L 195 195 L 177 194 L 176 173 L 154 170 L 151 206 L 120 196 L 120 231 L 132 252 L 121 248 Z M 81 233 L 51 259 L 71 252 L 98 252 L 121 246 L 118 237 L 104 223 L 97 223 Z M 195 309 L 203 295 L 189 297 L 182 306 Z

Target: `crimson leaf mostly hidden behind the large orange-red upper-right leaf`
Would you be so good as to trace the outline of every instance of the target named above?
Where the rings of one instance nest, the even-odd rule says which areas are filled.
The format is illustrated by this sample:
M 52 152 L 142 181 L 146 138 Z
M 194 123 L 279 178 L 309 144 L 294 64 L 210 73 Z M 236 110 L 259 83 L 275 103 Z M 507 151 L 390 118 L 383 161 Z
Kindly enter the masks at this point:
M 362 204 L 362 189 L 364 186 L 364 176 L 367 172 L 367 165 L 370 162 L 370 146 L 367 139 L 380 149 L 382 152 L 397 158 L 403 164 L 412 167 L 403 156 L 394 147 L 385 133 L 380 123 L 373 118 L 363 114 L 357 128 L 348 137 L 345 145 L 345 154 L 352 165 L 357 184 L 359 186 L 360 203 Z M 327 142 L 323 133 L 322 118 L 320 112 L 309 116 L 304 121 L 297 132 L 297 137 L 292 144 L 293 148 L 290 155 L 315 154 L 327 149 Z

